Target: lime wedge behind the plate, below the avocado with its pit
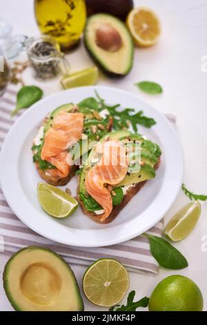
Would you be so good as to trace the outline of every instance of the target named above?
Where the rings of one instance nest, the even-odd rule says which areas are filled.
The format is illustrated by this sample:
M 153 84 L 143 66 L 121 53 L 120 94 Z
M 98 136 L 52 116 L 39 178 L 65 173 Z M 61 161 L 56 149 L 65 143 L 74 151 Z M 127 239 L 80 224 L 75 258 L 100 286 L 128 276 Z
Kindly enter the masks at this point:
M 96 66 L 93 66 L 92 68 L 81 70 L 72 75 L 63 77 L 61 85 L 63 86 L 63 89 L 79 86 L 91 86 L 97 83 L 98 77 L 99 71 Z

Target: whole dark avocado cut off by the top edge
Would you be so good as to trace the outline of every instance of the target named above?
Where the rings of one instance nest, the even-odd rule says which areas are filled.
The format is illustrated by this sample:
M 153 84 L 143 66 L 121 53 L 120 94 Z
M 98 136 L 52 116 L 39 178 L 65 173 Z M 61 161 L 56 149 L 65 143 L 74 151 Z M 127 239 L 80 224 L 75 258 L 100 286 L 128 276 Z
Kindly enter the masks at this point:
M 132 0 L 110 0 L 107 4 L 105 0 L 86 0 L 86 6 L 88 16 L 105 12 L 125 21 L 134 5 Z

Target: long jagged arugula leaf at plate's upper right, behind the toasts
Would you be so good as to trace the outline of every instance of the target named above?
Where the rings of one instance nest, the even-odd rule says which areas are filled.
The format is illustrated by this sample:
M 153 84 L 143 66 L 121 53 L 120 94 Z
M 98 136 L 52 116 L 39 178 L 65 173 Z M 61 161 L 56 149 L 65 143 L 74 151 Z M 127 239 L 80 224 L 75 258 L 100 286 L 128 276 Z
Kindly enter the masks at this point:
M 144 127 L 152 127 L 152 125 L 155 125 L 156 122 L 153 118 L 148 118 L 147 116 L 144 116 L 143 111 L 139 111 L 135 114 L 135 109 L 124 109 L 123 111 L 117 111 L 117 109 L 120 107 L 120 104 L 116 104 L 114 106 L 109 106 L 105 103 L 105 100 L 103 100 L 97 91 L 95 91 L 97 95 L 97 99 L 99 100 L 99 110 L 102 109 L 108 109 L 110 116 L 113 118 L 113 128 L 115 131 L 126 128 L 128 129 L 129 125 L 128 122 L 132 124 L 132 128 L 135 132 L 137 132 L 137 124 L 141 124 Z

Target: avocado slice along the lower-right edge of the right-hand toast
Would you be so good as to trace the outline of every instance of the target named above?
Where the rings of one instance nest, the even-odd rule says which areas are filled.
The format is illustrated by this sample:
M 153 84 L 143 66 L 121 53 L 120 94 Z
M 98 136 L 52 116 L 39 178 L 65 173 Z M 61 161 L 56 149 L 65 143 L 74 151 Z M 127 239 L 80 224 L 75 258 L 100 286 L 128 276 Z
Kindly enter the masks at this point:
M 139 173 L 127 174 L 121 183 L 115 185 L 116 187 L 128 186 L 132 184 L 137 184 L 143 182 L 144 180 L 149 180 L 155 178 L 155 169 L 150 165 L 144 165 L 141 167 Z

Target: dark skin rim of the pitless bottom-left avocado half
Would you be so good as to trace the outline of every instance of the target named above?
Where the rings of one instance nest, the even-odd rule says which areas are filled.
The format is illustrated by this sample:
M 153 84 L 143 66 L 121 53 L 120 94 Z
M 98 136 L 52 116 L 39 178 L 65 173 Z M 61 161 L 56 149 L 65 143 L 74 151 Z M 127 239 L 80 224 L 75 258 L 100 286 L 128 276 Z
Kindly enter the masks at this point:
M 21 252 L 23 252 L 24 250 L 46 250 L 47 252 L 50 252 L 51 254 L 58 257 L 67 266 L 68 272 L 70 272 L 70 274 L 72 275 L 72 277 L 73 277 L 73 279 L 75 281 L 76 288 L 77 288 L 77 296 L 79 297 L 79 306 L 80 306 L 79 311 L 83 311 L 84 310 L 83 299 L 81 297 L 81 293 L 80 293 L 80 290 L 79 290 L 79 285 L 77 283 L 77 279 L 75 277 L 74 272 L 71 270 L 68 263 L 66 263 L 66 261 L 59 254 L 57 254 L 53 250 L 50 250 L 49 248 L 45 248 L 45 247 L 41 247 L 41 246 L 28 246 L 26 248 L 22 248 L 21 250 L 18 250 L 15 254 L 12 255 L 12 257 L 10 257 L 10 259 L 7 261 L 7 263 L 6 263 L 5 267 L 4 267 L 4 270 L 3 270 L 3 289 L 4 289 L 5 293 L 6 293 L 6 296 L 8 297 L 8 301 L 10 301 L 10 304 L 12 305 L 14 310 L 23 311 L 18 306 L 18 304 L 16 304 L 15 301 L 13 301 L 12 295 L 10 295 L 10 293 L 9 293 L 8 280 L 6 279 L 6 276 L 7 276 L 8 268 L 10 268 L 10 264 L 12 262 L 12 259 L 14 259 L 14 257 L 17 256 L 17 254 L 21 254 Z

